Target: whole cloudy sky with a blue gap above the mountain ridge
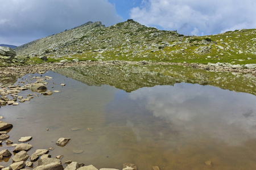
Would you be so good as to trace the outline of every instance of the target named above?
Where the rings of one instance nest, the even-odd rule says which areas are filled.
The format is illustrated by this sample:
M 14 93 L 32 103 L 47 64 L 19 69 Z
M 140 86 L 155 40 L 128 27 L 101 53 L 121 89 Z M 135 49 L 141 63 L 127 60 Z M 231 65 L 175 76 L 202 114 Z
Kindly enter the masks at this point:
M 256 28 L 255 0 L 0 0 L 0 44 L 23 45 L 86 22 L 133 19 L 184 35 Z

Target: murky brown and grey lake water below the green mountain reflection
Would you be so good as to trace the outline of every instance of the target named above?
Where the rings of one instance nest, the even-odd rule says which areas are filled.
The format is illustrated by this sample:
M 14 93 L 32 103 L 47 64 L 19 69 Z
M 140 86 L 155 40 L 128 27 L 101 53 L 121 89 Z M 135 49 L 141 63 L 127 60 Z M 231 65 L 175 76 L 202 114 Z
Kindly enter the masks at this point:
M 154 84 L 125 92 L 108 85 L 88 86 L 53 72 L 45 75 L 53 77 L 48 89 L 60 93 L 0 108 L 2 121 L 14 125 L 8 133 L 11 141 L 33 137 L 30 155 L 53 147 L 49 154 L 64 155 L 63 163 L 73 160 L 98 169 L 122 169 L 123 163 L 137 164 L 140 170 L 154 165 L 160 169 L 256 168 L 255 95 L 191 83 Z M 20 93 L 27 94 L 31 91 Z M 71 141 L 56 146 L 60 137 Z M 5 148 L 3 142 L 0 149 Z M 212 166 L 205 165 L 208 160 Z M 11 159 L 0 164 L 10 165 Z

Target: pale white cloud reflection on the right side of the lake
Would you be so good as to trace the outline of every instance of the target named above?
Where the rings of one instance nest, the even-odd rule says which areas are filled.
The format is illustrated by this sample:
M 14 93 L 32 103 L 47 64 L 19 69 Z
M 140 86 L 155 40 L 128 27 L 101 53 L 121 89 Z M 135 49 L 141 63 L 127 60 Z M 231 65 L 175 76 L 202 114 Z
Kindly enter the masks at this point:
M 256 138 L 254 95 L 180 83 L 141 88 L 129 97 L 155 117 L 182 129 L 182 133 L 217 138 L 232 145 Z

